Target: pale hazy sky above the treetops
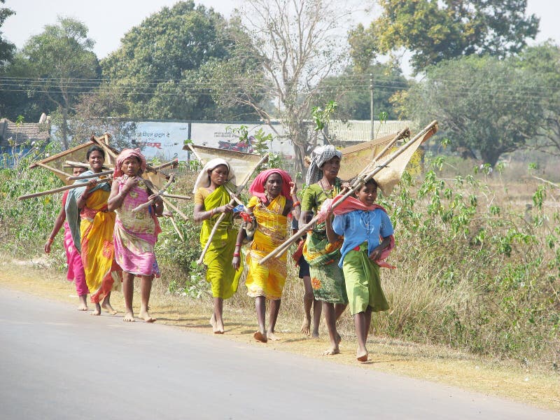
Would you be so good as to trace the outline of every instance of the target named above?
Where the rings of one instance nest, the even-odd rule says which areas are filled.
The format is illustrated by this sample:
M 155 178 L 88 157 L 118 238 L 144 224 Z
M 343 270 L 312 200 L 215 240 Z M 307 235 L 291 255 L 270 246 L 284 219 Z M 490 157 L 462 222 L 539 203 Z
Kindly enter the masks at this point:
M 29 37 L 40 34 L 45 25 L 55 25 L 57 15 L 74 18 L 90 29 L 88 35 L 96 41 L 94 52 L 102 59 L 118 49 L 120 39 L 132 27 L 161 8 L 173 6 L 176 2 L 177 0 L 6 0 L 5 3 L 0 3 L 0 7 L 10 8 L 16 14 L 6 19 L 0 30 L 8 41 L 22 48 Z M 236 7 L 241 6 L 242 1 L 195 0 L 195 3 L 214 8 L 228 18 Z M 375 8 L 372 13 L 374 12 Z M 560 1 L 528 0 L 527 12 L 540 18 L 540 33 L 535 42 L 552 38 L 560 45 Z M 373 18 L 373 14 L 368 16 L 359 13 L 359 19 L 365 25 Z

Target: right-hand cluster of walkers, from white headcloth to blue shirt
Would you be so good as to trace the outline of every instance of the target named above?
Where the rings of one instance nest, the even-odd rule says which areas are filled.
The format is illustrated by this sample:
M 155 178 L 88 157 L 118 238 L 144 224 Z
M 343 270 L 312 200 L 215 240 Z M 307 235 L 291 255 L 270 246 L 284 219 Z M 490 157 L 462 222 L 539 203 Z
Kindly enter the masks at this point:
M 251 222 L 236 231 L 232 225 L 233 205 L 225 189 L 227 181 L 235 180 L 235 170 L 221 159 L 211 160 L 204 166 L 195 183 L 195 221 L 202 221 L 200 242 L 207 246 L 209 232 L 220 214 L 226 214 L 218 226 L 216 235 L 204 255 L 207 280 L 212 284 L 214 314 L 211 325 L 216 334 L 223 334 L 223 300 L 237 290 L 243 265 L 247 266 L 245 285 L 249 296 L 255 298 L 258 330 L 253 337 L 259 342 L 278 339 L 274 332 L 279 315 L 281 297 L 286 282 L 286 255 L 272 258 L 265 263 L 260 260 L 288 237 L 288 216 L 307 224 L 314 214 L 326 214 L 321 223 L 309 230 L 302 244 L 300 277 L 308 278 L 314 300 L 322 302 L 322 311 L 328 329 L 330 347 L 325 355 L 339 353 L 341 337 L 336 322 L 351 299 L 358 335 L 359 361 L 367 360 L 367 331 L 372 311 L 384 311 L 388 304 L 379 281 L 379 264 L 386 258 L 394 244 L 393 228 L 386 212 L 374 204 L 377 184 L 373 179 L 358 190 L 342 213 L 328 208 L 322 210 L 325 201 L 332 202 L 348 184 L 337 177 L 342 153 L 333 146 L 316 148 L 311 156 L 307 172 L 307 188 L 301 202 L 297 200 L 297 187 L 290 175 L 282 169 L 267 169 L 255 177 L 246 204 Z M 332 220 L 334 216 L 334 221 Z M 351 218 L 350 218 L 351 217 Z M 224 222 L 225 221 L 225 222 Z M 333 225 L 334 223 L 334 225 Z M 346 240 L 346 236 L 349 239 Z M 350 238 L 351 237 L 351 238 Z M 241 247 L 248 242 L 245 260 Z M 358 244 L 354 244 L 359 241 Z M 348 253 L 351 246 L 352 253 Z M 341 253 L 341 250 L 344 250 Z M 357 253 L 360 258 L 357 258 Z M 346 254 L 350 255 L 347 256 Z M 346 260 L 343 264 L 343 260 Z M 309 272 L 307 272 L 307 267 Z M 376 268 L 377 267 L 377 268 Z M 350 281 L 345 280 L 349 273 Z M 266 301 L 269 300 L 268 327 L 266 327 Z M 306 311 L 311 304 L 306 302 Z M 317 310 L 317 306 L 315 306 Z M 309 314 L 302 330 L 309 333 Z M 317 320 L 318 322 L 318 320 Z M 316 323 L 317 323 L 316 322 Z M 307 328 L 306 328 L 307 327 Z M 314 332 L 318 325 L 314 325 Z

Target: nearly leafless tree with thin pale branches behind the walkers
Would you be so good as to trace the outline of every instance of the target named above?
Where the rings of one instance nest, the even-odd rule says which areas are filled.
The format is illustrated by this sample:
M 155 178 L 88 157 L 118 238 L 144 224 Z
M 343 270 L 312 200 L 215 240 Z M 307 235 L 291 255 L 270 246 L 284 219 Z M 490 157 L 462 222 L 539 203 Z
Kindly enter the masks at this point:
M 308 122 L 318 85 L 344 68 L 339 34 L 348 16 L 343 4 L 330 0 L 247 0 L 239 10 L 237 22 L 250 36 L 258 66 L 246 76 L 236 75 L 235 87 L 228 87 L 224 77 L 216 80 L 216 93 L 224 102 L 251 106 L 267 123 L 279 116 L 293 143 L 296 170 L 302 170 L 313 146 Z M 225 64 L 221 74 L 232 74 L 240 65 Z

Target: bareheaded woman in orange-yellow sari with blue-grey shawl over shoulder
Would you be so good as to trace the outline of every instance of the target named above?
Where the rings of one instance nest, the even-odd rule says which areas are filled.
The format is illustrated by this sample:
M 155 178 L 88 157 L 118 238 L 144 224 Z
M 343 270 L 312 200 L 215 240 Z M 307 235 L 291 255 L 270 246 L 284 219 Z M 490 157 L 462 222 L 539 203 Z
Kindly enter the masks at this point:
M 101 147 L 90 147 L 86 158 L 91 169 L 83 175 L 102 172 L 105 151 Z M 109 183 L 99 183 L 96 179 L 83 183 L 82 188 L 70 190 L 66 199 L 66 215 L 69 216 L 74 244 L 82 255 L 85 282 L 91 291 L 91 301 L 95 304 L 92 315 L 100 315 L 102 307 L 109 313 L 116 314 L 111 307 L 111 290 L 120 290 L 123 270 L 115 261 L 113 248 L 116 215 L 114 211 L 107 209 L 111 187 Z M 77 211 L 80 211 L 79 219 Z

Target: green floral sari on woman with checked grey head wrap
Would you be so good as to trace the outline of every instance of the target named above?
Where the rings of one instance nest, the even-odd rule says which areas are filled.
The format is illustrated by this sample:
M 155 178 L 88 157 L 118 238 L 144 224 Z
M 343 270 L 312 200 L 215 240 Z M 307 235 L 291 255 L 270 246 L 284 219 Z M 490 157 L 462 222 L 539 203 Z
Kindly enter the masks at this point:
M 302 211 L 317 212 L 325 200 L 335 197 L 339 192 L 339 179 L 336 179 L 335 188 L 332 190 L 323 190 L 318 183 L 307 187 L 302 199 Z M 311 287 L 316 300 L 339 304 L 348 303 L 344 274 L 338 266 L 341 247 L 342 239 L 336 244 L 329 243 L 324 222 L 317 223 L 307 235 L 303 255 L 309 263 Z

